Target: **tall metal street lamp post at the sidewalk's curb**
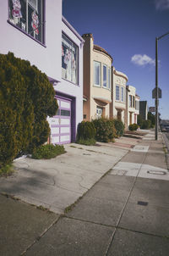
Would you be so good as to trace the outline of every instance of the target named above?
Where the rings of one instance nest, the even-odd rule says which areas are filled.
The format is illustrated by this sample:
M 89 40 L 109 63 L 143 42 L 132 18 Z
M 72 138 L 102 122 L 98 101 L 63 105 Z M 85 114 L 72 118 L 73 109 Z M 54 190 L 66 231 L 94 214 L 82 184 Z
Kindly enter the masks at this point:
M 158 41 L 169 35 L 166 34 L 155 38 L 155 140 L 158 140 Z

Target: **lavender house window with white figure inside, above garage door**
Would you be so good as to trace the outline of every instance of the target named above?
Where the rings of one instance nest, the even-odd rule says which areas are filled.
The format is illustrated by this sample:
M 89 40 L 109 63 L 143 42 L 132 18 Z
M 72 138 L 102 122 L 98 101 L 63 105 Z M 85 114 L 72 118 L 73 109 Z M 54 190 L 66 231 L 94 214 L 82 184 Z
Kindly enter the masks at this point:
M 78 84 L 78 47 L 63 34 L 62 37 L 62 77 Z

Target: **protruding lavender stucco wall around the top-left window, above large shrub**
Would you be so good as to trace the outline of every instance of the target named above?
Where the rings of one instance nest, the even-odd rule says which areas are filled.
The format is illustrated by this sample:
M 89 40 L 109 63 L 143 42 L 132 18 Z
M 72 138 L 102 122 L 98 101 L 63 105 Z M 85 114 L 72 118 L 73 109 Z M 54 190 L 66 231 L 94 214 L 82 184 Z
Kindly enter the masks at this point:
M 46 0 L 46 47 L 35 42 L 13 25 L 8 24 L 8 1 L 1 0 L 0 53 L 13 52 L 15 57 L 28 59 L 46 75 L 61 80 L 62 0 Z

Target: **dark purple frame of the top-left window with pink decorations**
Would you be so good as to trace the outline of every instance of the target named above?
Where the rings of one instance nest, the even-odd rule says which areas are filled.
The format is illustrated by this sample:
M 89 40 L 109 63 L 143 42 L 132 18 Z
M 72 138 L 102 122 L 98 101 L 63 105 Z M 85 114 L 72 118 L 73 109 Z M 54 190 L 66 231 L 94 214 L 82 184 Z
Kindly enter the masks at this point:
M 41 44 L 41 46 L 46 47 L 46 0 L 41 0 L 41 41 L 37 38 L 35 38 L 34 36 L 31 36 L 30 33 L 28 32 L 28 1 L 29 0 L 25 0 L 25 4 L 26 4 L 26 30 L 20 28 L 18 25 L 14 24 L 14 22 L 12 22 L 12 19 L 10 19 L 10 6 L 9 6 L 9 1 L 8 0 L 8 24 L 13 25 L 14 28 L 16 28 L 17 30 L 21 31 L 22 33 L 24 33 L 26 36 L 29 36 L 31 39 L 33 39 L 35 42 L 38 42 L 39 44 Z M 38 0 L 37 0 L 38 1 Z M 38 5 L 38 4 L 37 4 Z M 39 25 L 40 26 L 40 25 Z M 39 27 L 38 26 L 38 27 Z

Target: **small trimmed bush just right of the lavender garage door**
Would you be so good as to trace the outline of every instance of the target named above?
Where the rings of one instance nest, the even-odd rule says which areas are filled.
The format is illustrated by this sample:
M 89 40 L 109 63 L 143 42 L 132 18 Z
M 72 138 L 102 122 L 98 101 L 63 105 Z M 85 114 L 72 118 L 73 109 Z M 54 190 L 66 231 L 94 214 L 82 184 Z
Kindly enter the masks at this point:
M 95 125 L 92 122 L 82 121 L 79 123 L 76 142 L 85 145 L 95 144 Z

